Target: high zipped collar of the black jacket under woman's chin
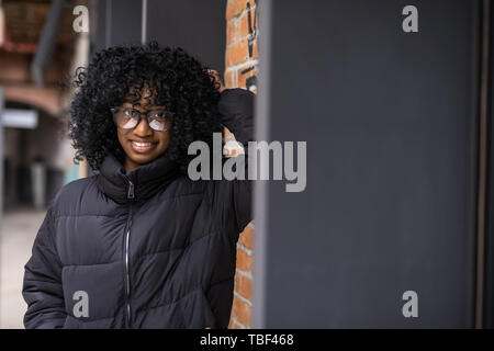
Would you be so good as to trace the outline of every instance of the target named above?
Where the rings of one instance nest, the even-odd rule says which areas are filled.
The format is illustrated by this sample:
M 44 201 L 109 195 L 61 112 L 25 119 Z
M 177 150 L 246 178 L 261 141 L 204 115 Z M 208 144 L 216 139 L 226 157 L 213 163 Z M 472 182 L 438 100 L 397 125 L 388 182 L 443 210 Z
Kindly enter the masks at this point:
M 178 163 L 169 159 L 168 152 L 128 173 L 122 162 L 109 154 L 98 174 L 98 188 L 116 203 L 139 202 L 167 186 L 178 173 Z

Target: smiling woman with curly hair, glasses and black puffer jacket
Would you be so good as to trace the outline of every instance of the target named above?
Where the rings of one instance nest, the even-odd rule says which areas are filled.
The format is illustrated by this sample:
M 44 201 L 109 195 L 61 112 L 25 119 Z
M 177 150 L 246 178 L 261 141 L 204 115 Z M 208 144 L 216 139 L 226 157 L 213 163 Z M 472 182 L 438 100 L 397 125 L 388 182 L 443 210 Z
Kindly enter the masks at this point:
M 97 174 L 48 207 L 25 264 L 26 328 L 227 328 L 251 184 L 192 181 L 188 147 L 222 125 L 246 145 L 254 94 L 214 76 L 156 43 L 78 72 L 70 137 Z

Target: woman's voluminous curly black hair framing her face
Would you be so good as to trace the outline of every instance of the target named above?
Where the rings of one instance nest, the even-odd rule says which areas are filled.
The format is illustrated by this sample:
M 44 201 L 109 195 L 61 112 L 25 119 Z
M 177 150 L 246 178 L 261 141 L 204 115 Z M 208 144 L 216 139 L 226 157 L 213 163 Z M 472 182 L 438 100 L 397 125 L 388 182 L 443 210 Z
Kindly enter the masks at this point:
M 182 172 L 192 157 L 187 155 L 189 144 L 203 140 L 211 146 L 213 133 L 223 131 L 218 83 L 207 67 L 180 47 L 161 47 L 156 42 L 110 47 L 94 54 L 87 68 L 79 67 L 74 82 L 77 91 L 68 125 L 74 161 L 86 158 L 96 171 L 110 152 L 124 160 L 110 109 L 119 105 L 130 89 L 151 87 L 156 103 L 173 114 L 166 152 Z

